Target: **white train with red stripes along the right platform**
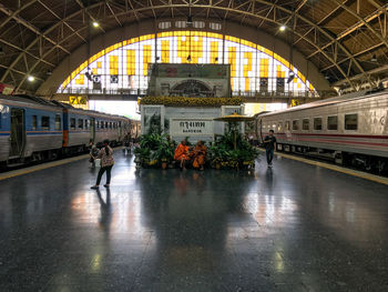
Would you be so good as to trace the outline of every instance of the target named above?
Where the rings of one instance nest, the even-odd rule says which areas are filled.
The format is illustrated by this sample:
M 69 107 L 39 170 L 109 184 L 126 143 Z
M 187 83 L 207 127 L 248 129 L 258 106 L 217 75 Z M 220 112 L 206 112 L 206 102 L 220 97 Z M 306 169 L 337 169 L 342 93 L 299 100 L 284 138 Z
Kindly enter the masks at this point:
M 261 114 L 256 134 L 275 131 L 278 150 L 331 157 L 366 170 L 388 168 L 388 91 L 356 92 Z

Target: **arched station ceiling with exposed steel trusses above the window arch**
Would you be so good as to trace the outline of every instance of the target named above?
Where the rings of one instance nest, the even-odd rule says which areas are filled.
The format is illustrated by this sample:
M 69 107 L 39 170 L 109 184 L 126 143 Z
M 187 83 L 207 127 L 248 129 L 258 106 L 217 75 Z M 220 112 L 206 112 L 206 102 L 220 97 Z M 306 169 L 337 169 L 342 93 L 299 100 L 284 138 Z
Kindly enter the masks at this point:
M 0 82 L 33 93 L 90 39 L 143 20 L 187 16 L 276 36 L 331 85 L 355 90 L 388 78 L 386 0 L 1 0 Z

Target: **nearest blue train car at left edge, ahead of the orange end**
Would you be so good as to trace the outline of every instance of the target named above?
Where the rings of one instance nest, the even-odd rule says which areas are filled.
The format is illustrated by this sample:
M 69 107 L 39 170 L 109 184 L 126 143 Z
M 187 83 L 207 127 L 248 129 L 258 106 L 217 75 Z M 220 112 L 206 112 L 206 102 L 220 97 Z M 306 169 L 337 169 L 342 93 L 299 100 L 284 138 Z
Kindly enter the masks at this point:
M 63 140 L 62 109 L 22 97 L 0 95 L 0 163 L 54 158 Z

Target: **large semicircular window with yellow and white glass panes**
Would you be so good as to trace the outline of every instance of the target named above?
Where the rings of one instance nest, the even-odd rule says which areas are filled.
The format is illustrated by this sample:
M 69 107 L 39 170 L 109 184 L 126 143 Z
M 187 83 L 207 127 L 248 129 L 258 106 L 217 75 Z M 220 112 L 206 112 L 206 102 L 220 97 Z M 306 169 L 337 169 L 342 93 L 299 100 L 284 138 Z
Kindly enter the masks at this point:
M 147 88 L 149 64 L 229 63 L 234 94 L 315 91 L 287 60 L 256 43 L 202 31 L 166 31 L 113 44 L 84 61 L 59 92 L 121 93 Z M 287 82 L 289 71 L 295 78 Z

